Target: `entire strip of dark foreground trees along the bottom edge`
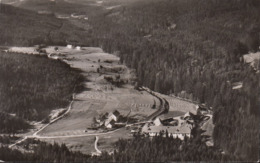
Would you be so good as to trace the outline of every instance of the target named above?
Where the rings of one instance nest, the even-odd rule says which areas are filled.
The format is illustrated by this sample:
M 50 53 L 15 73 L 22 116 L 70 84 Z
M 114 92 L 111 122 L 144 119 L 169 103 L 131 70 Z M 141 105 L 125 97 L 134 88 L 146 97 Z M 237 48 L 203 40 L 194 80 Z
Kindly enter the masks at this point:
M 168 134 L 166 134 L 168 135 Z M 221 154 L 215 147 L 208 147 L 205 139 L 198 134 L 184 141 L 163 136 L 144 137 L 135 135 L 133 139 L 120 139 L 115 143 L 112 154 L 103 152 L 100 156 L 85 155 L 70 151 L 65 144 L 48 144 L 38 140 L 27 139 L 22 146 L 25 152 L 0 147 L 0 158 L 4 161 L 30 162 L 165 162 L 165 161 L 227 161 L 238 160 L 228 154 Z M 33 151 L 33 152 L 31 152 Z

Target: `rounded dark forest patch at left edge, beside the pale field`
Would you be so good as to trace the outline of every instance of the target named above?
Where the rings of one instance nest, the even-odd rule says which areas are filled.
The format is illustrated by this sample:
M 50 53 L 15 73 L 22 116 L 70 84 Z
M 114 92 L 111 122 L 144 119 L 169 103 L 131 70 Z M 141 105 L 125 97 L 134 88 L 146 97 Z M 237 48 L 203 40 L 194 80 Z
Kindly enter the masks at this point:
M 25 120 L 42 120 L 52 109 L 66 107 L 84 80 L 61 61 L 0 53 L 0 132 L 27 129 Z

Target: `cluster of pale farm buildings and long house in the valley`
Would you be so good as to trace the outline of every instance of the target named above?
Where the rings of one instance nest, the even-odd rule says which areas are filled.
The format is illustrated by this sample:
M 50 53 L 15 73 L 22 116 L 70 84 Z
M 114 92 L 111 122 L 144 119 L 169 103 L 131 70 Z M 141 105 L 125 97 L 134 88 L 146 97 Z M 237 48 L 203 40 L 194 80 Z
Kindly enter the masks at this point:
M 196 114 L 203 116 L 203 121 L 208 121 L 210 116 L 210 110 L 204 106 L 198 106 L 196 108 Z M 141 133 L 143 135 L 149 135 L 150 137 L 163 134 L 163 136 L 172 136 L 173 138 L 179 138 L 184 140 L 185 137 L 190 138 L 191 131 L 195 126 L 195 114 L 187 112 L 182 116 L 171 117 L 161 119 L 156 117 L 152 121 L 142 121 L 126 125 L 121 123 L 120 113 L 115 110 L 110 113 L 100 115 L 99 118 L 95 119 L 95 128 L 106 128 L 112 129 L 117 127 L 125 126 L 131 129 L 131 133 Z

